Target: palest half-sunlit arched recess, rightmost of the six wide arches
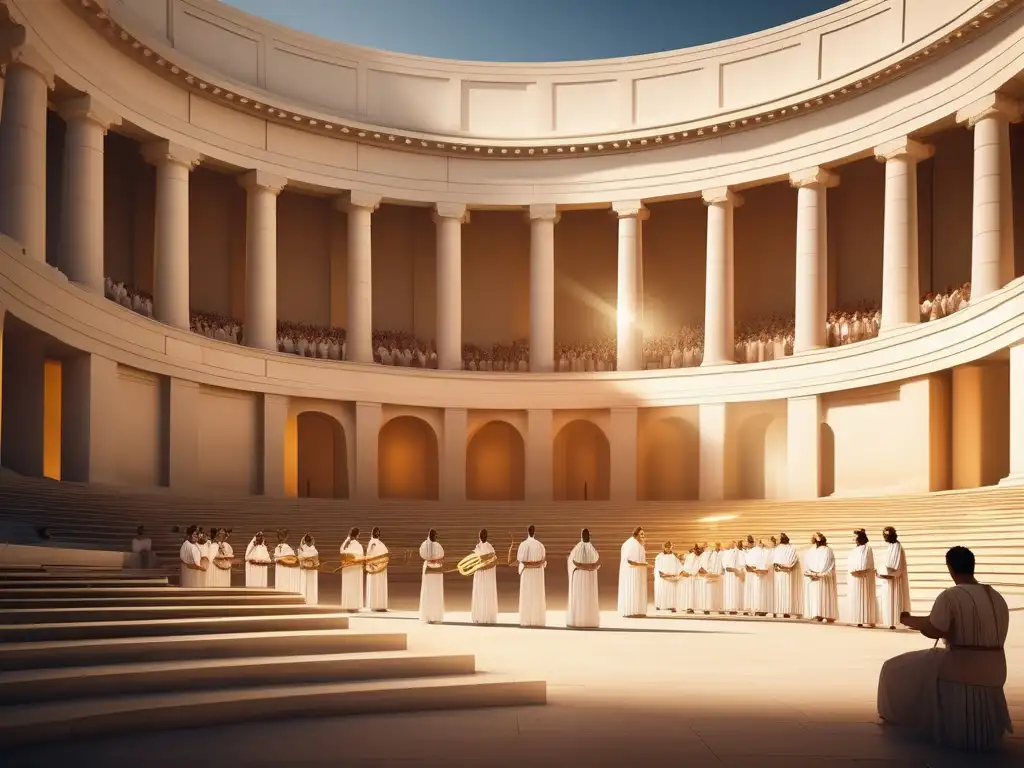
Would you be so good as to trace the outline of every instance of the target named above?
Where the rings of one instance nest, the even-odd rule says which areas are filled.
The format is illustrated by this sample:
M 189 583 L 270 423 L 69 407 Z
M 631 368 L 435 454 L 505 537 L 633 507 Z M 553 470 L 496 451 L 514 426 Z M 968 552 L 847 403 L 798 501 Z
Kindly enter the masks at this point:
M 752 416 L 736 433 L 740 499 L 783 499 L 786 493 L 786 423 L 781 416 Z

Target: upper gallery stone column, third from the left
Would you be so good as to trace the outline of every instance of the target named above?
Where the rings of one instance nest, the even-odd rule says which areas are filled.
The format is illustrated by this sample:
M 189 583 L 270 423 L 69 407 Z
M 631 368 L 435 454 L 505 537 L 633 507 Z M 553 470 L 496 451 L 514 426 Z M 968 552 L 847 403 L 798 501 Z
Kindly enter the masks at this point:
M 157 217 L 153 246 L 153 313 L 188 330 L 188 174 L 202 156 L 171 141 L 154 141 L 142 157 L 157 167 Z

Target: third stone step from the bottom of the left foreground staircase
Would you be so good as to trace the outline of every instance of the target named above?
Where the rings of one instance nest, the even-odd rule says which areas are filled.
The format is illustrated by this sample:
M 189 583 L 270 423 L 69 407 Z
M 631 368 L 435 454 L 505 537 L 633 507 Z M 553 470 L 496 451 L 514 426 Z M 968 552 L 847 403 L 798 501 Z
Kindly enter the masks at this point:
M 146 662 L 246 658 L 251 656 L 370 653 L 406 650 L 395 632 L 310 630 L 176 635 L 106 640 L 0 643 L 0 672 L 63 669 Z

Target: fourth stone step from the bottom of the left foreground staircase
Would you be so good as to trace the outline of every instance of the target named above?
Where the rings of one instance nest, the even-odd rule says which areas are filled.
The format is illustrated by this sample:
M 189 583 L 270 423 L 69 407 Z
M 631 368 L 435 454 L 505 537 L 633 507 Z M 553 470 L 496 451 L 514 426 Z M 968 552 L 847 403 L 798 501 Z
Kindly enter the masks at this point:
M 348 629 L 348 614 L 340 612 L 305 615 L 206 616 L 136 622 L 68 622 L 65 624 L 0 625 L 0 643 L 344 629 Z

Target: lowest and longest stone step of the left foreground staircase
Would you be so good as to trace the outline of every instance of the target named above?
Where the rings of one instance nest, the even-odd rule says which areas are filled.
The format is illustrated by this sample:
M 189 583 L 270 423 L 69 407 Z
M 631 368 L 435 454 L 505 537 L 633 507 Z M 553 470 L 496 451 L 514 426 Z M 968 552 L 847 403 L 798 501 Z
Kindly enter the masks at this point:
M 3 708 L 0 745 L 258 720 L 547 702 L 547 685 L 504 675 L 183 691 Z

